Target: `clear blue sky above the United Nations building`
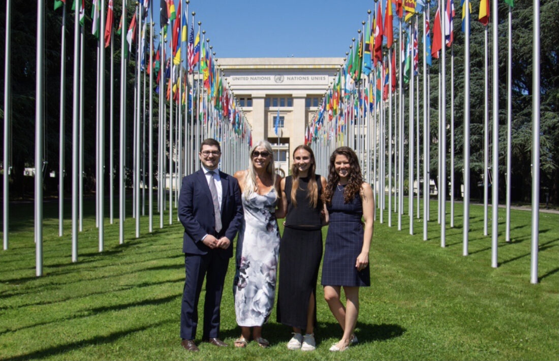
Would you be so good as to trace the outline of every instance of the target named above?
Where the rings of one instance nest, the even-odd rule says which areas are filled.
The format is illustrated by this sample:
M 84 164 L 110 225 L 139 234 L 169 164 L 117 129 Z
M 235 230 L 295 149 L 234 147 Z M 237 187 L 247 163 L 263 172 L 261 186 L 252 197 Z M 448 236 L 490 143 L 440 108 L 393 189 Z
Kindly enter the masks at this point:
M 159 1 L 153 4 L 159 25 Z M 188 28 L 195 11 L 195 31 L 201 21 L 217 58 L 342 58 L 374 6 L 373 0 L 191 0 Z

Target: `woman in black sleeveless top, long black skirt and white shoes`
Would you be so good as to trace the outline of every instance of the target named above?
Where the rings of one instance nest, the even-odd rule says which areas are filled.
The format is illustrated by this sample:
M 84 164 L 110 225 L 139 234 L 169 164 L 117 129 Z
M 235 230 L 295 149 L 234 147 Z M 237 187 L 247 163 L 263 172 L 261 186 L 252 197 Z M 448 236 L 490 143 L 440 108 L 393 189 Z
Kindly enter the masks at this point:
M 315 169 L 312 149 L 297 146 L 292 175 L 281 181 L 286 220 L 280 243 L 277 321 L 293 327 L 287 343 L 290 350 L 311 351 L 316 346 L 316 279 L 322 258 L 321 227 L 328 213 L 321 200 L 326 179 L 315 174 Z M 276 216 L 280 217 L 278 212 Z

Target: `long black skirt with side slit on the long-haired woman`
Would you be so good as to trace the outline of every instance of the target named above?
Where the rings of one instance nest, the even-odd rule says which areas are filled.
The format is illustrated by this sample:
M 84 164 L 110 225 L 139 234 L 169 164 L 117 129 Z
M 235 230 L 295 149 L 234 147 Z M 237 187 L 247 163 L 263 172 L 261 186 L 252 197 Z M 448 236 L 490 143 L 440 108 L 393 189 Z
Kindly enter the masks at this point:
M 320 229 L 285 227 L 283 230 L 277 302 L 277 321 L 281 324 L 306 329 L 309 299 L 314 295 L 313 319 L 316 326 L 316 280 L 322 250 Z

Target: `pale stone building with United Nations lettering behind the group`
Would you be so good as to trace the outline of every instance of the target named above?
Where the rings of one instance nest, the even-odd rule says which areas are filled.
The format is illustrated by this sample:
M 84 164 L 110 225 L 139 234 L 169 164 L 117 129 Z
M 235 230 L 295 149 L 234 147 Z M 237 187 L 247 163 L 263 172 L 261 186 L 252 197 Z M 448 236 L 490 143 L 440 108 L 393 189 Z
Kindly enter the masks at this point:
M 220 58 L 217 64 L 252 127 L 253 141 L 269 141 L 276 167 L 287 175 L 290 154 L 304 143 L 305 128 L 343 58 Z

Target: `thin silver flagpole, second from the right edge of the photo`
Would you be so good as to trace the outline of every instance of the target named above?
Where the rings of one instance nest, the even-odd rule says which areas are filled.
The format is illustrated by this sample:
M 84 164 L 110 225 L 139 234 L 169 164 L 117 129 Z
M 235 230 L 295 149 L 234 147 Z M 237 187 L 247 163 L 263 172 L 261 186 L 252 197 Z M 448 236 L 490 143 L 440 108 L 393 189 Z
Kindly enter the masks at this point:
M 512 94 L 512 67 L 513 67 L 513 30 L 512 13 L 509 5 L 509 21 L 507 23 L 508 32 L 508 53 L 506 56 L 506 225 L 505 241 L 510 242 L 510 181 L 511 181 L 511 158 L 512 158 L 512 117 L 513 117 L 513 94 Z

